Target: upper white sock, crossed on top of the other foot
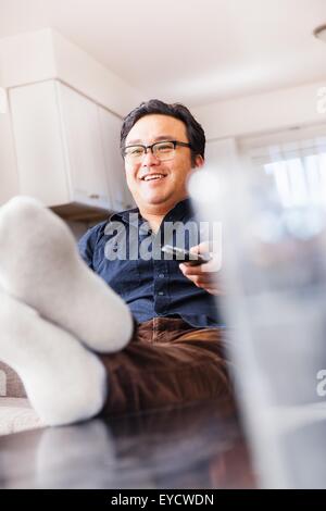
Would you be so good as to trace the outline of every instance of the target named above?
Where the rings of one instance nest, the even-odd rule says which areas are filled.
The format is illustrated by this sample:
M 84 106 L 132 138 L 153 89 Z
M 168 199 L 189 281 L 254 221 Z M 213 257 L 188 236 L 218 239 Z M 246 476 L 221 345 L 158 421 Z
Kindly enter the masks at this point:
M 130 340 L 127 304 L 88 269 L 64 222 L 35 199 L 0 208 L 0 284 L 96 351 Z

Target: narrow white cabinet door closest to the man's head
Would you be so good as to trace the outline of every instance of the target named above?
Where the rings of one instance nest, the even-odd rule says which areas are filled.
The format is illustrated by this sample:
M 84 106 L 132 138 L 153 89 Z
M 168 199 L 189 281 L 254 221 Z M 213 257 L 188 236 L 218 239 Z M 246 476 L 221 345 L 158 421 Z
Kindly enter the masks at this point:
M 124 162 L 120 152 L 120 132 L 122 121 L 101 107 L 98 107 L 98 111 L 113 210 L 122 211 L 135 208 L 134 199 L 127 187 Z

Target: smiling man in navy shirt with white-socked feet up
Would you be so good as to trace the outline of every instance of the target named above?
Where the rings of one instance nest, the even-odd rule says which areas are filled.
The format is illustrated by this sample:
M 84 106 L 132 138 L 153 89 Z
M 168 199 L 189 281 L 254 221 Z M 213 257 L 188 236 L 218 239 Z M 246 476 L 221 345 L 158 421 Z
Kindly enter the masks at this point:
M 214 261 L 191 266 L 161 252 L 195 225 L 187 179 L 204 145 L 180 104 L 151 100 L 127 115 L 121 148 L 137 208 L 80 239 L 92 272 L 48 210 L 20 198 L 2 208 L 0 358 L 47 424 L 202 399 L 233 407 Z M 185 248 L 206 249 L 183 234 Z

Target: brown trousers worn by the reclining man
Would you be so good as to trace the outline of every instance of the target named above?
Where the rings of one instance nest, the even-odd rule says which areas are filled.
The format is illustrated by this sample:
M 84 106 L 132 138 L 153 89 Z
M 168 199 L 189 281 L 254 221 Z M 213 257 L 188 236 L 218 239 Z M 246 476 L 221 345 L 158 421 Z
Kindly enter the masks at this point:
M 223 411 L 234 411 L 225 332 L 195 328 L 174 317 L 135 322 L 133 338 L 124 350 L 99 356 L 109 381 L 102 414 L 203 400 L 217 400 Z

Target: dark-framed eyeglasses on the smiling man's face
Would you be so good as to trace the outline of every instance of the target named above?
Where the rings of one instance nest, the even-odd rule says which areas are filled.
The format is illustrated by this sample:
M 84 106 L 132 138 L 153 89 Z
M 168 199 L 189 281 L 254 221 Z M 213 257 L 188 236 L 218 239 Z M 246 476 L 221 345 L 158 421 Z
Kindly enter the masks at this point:
M 160 161 L 167 161 L 174 158 L 177 146 L 189 147 L 191 149 L 190 144 L 179 142 L 177 140 L 166 140 L 152 144 L 151 146 L 127 146 L 123 149 L 122 153 L 126 161 L 138 163 L 142 161 L 148 149 L 150 149 L 152 154 L 154 154 L 154 157 Z

